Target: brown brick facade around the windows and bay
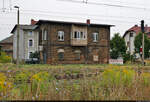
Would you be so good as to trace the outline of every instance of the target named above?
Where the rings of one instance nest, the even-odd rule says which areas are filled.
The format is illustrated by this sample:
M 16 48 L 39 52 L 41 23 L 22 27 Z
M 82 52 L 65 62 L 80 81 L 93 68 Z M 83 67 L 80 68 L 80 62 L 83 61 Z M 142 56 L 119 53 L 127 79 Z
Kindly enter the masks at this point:
M 43 54 L 46 54 L 47 64 L 104 64 L 109 61 L 110 25 L 86 25 L 63 22 L 38 22 L 39 45 L 43 46 Z M 87 29 L 87 45 L 71 45 L 72 26 Z M 42 31 L 47 30 L 47 40 L 42 43 Z M 64 41 L 58 41 L 58 31 L 64 31 Z M 98 41 L 93 42 L 93 33 L 98 33 Z M 81 42 L 82 43 L 82 42 Z M 63 49 L 64 59 L 59 60 L 59 50 Z M 76 59 L 76 52 L 80 52 L 80 59 Z

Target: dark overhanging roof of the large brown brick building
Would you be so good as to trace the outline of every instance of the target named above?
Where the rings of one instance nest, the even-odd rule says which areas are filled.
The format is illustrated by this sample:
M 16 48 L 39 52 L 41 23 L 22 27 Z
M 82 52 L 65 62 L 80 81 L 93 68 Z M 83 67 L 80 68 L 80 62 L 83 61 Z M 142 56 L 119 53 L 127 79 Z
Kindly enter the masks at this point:
M 66 21 L 55 21 L 55 20 L 39 20 L 36 25 L 40 25 L 42 23 L 57 23 L 57 24 L 75 24 L 75 25 L 87 25 L 87 23 L 81 22 L 66 22 Z M 114 25 L 107 25 L 107 24 L 94 24 L 91 23 L 90 26 L 114 26 Z

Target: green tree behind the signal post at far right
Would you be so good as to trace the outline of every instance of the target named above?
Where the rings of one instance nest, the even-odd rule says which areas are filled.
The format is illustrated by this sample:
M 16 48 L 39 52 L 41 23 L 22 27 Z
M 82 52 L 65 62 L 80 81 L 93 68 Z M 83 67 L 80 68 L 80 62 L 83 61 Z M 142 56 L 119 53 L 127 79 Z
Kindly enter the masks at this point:
M 142 46 L 142 33 L 139 33 L 134 40 L 135 52 L 140 54 L 140 47 Z M 144 34 L 144 56 L 149 57 L 150 40 L 146 34 Z

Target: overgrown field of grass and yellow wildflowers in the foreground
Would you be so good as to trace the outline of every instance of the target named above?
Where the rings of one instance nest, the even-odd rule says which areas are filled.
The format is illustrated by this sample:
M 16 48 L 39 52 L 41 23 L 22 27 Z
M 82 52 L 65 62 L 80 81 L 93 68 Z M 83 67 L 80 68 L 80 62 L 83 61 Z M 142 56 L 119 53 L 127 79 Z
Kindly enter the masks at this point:
M 139 71 L 140 70 L 140 71 Z M 1 100 L 149 100 L 149 67 L 0 64 Z

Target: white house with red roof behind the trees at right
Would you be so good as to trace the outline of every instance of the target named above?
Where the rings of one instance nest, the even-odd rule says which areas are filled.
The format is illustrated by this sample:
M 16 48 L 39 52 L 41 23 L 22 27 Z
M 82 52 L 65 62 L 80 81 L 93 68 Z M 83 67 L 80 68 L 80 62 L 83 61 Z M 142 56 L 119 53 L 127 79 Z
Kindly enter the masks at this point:
M 135 51 L 135 46 L 134 46 L 134 40 L 136 35 L 138 35 L 141 32 L 141 27 L 138 25 L 135 25 L 128 29 L 125 34 L 123 35 L 123 38 L 125 39 L 126 46 L 127 46 L 127 52 L 129 52 L 131 55 Z M 145 27 L 145 33 L 147 36 L 150 38 L 150 27 L 146 25 Z

